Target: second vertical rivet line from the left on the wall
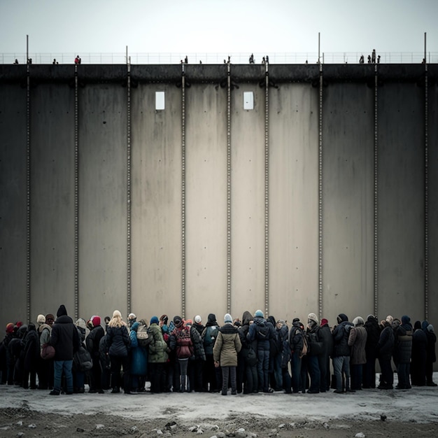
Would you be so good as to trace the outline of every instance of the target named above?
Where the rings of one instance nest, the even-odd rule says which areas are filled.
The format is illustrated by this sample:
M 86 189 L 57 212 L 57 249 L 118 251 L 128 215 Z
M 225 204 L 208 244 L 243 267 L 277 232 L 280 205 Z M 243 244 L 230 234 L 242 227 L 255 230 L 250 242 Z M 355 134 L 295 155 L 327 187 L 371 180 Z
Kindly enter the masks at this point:
M 74 94 L 74 314 L 79 317 L 79 120 L 78 66 L 75 64 Z

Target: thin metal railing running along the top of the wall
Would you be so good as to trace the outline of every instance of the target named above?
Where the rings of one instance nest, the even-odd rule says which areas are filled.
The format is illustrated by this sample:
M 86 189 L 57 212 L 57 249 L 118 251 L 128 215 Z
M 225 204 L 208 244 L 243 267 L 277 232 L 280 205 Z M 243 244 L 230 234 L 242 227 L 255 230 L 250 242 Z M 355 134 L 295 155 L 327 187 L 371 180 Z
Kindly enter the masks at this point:
M 34 53 L 29 52 L 32 64 L 52 64 L 54 59 L 58 64 L 74 64 L 76 55 L 80 55 L 81 64 L 126 64 L 126 53 Z M 130 64 L 179 64 L 185 57 L 188 64 L 223 64 L 228 57 L 232 64 L 249 64 L 250 53 L 129 53 Z M 255 64 L 262 64 L 264 57 L 269 57 L 271 64 L 316 64 L 317 52 L 297 53 L 254 53 Z M 370 52 L 325 52 L 321 55 L 323 64 L 358 64 L 361 56 L 367 64 Z M 377 52 L 382 64 L 421 64 L 424 52 Z M 0 53 L 0 64 L 26 64 L 26 53 Z M 426 52 L 428 64 L 438 63 L 438 52 Z

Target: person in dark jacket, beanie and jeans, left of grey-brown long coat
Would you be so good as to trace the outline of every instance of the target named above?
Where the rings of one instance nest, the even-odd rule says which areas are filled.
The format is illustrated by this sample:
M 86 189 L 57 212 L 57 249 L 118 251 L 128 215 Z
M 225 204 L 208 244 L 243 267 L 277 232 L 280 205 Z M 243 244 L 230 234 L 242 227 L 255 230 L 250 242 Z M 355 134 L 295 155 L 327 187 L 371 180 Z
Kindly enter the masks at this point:
M 337 327 L 333 330 L 333 369 L 336 378 L 336 389 L 334 393 L 344 393 L 342 388 L 342 374 L 345 374 L 345 390 L 351 391 L 350 388 L 350 347 L 348 346 L 348 337 L 350 336 L 353 324 L 348 321 L 345 313 L 339 313 L 337 316 Z

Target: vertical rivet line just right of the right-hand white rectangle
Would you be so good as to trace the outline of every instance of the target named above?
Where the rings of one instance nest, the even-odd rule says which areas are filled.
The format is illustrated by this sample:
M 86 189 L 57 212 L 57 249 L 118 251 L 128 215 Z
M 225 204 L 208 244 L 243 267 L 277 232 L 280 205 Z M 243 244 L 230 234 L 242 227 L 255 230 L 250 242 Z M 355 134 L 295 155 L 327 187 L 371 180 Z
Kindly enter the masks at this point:
M 269 315 L 269 63 L 264 65 L 264 311 Z

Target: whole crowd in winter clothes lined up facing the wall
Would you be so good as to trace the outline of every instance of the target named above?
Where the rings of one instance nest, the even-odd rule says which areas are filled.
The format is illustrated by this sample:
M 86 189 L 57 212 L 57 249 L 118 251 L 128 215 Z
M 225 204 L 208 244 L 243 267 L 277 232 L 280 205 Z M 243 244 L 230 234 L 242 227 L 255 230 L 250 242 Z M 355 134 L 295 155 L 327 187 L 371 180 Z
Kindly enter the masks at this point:
M 61 393 L 139 392 L 325 393 L 366 388 L 407 390 L 437 386 L 432 380 L 437 337 L 424 320 L 387 316 L 352 322 L 339 313 L 327 319 L 309 313 L 291 327 L 261 310 L 243 312 L 223 324 L 202 317 L 153 316 L 150 323 L 115 310 L 76 323 L 64 305 L 57 316 L 38 315 L 36 324 L 6 325 L 0 344 L 1 384 Z M 48 353 L 51 346 L 52 354 Z M 376 361 L 381 374 L 376 383 Z M 333 374 L 330 372 L 332 362 Z M 150 382 L 150 385 L 146 383 Z M 377 385 L 377 386 L 376 386 Z

